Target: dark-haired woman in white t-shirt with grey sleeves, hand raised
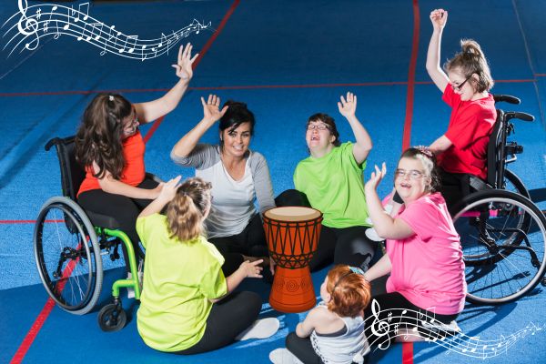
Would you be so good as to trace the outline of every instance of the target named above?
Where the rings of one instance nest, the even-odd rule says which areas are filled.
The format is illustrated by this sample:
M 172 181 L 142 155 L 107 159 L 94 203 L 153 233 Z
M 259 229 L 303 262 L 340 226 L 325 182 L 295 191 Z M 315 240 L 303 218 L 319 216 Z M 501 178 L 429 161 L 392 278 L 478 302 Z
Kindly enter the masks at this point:
M 182 167 L 195 167 L 196 176 L 212 184 L 207 238 L 222 255 L 240 257 L 233 267 L 223 267 L 230 274 L 244 259 L 268 256 L 260 213 L 275 207 L 273 187 L 266 159 L 248 148 L 255 119 L 247 105 L 227 101 L 220 110 L 215 95 L 209 95 L 207 102 L 201 97 L 201 103 L 203 119 L 178 140 L 171 158 Z M 218 120 L 219 144 L 198 143 Z

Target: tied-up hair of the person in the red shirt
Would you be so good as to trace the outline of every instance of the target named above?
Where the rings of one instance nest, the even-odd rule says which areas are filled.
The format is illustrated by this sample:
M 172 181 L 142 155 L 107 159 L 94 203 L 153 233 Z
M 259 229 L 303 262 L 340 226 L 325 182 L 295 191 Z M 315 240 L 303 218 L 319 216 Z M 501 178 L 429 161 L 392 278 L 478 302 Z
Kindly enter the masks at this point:
M 477 92 L 489 91 L 494 82 L 480 45 L 472 39 L 461 39 L 460 47 L 462 50 L 444 64 L 444 69 L 447 72 L 460 70 L 465 78 L 476 74 L 478 81 L 470 78 L 469 82 Z

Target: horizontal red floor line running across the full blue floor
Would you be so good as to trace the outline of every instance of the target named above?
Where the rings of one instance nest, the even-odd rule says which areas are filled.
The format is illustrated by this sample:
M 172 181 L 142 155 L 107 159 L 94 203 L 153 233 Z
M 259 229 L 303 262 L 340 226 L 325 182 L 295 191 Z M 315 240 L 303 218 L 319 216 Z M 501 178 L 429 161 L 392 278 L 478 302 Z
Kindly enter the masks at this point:
M 196 59 L 197 62 L 197 59 Z M 194 64 L 195 66 L 195 64 Z M 536 74 L 534 76 L 541 77 L 546 74 Z M 536 82 L 536 79 L 505 79 L 495 80 L 497 84 L 509 83 L 531 83 Z M 415 81 L 415 85 L 432 85 L 431 81 Z M 194 86 L 187 87 L 188 90 L 206 91 L 206 90 L 246 90 L 246 89 L 264 89 L 264 88 L 319 88 L 319 87 L 360 87 L 360 86 L 395 86 L 408 85 L 407 81 L 385 81 L 385 82 L 353 82 L 353 83 L 337 83 L 337 84 L 308 84 L 308 85 L 234 85 L 234 86 Z M 113 94 L 131 94 L 143 92 L 167 92 L 170 88 L 126 88 L 116 90 L 86 90 L 86 91 L 50 91 L 50 92 L 15 92 L 15 93 L 0 93 L 0 97 L 15 97 L 15 96 L 58 96 L 58 95 L 90 95 L 100 93 Z

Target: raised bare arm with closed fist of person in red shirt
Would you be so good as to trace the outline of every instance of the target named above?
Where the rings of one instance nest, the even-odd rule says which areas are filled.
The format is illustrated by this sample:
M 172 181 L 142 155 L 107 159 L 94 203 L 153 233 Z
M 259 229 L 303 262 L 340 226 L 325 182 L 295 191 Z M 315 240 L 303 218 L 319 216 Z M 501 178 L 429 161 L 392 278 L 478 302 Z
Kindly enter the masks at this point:
M 448 21 L 448 12 L 443 9 L 435 9 L 430 13 L 430 21 L 434 30 L 430 36 L 427 52 L 427 72 L 429 72 L 434 85 L 438 86 L 441 92 L 444 92 L 446 86 L 450 83 L 450 79 L 440 66 L 440 48 L 443 28 Z

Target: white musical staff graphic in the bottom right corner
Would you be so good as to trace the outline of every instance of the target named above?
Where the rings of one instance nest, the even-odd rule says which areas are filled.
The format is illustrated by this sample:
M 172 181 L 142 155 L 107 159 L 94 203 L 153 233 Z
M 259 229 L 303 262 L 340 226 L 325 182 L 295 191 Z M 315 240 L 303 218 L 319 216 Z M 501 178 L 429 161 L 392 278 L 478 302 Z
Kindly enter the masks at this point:
M 530 323 L 507 337 L 501 335 L 500 339 L 487 340 L 467 336 L 460 332 L 458 327 L 440 322 L 436 319 L 435 310 L 431 308 L 427 308 L 427 311 L 430 311 L 432 316 L 411 309 L 381 310 L 375 299 L 371 305 L 372 316 L 365 319 L 365 325 L 379 338 L 369 342 L 370 346 L 377 346 L 377 349 L 389 348 L 389 341 L 396 337 L 409 339 L 410 336 L 421 338 L 425 336 L 426 341 L 447 349 L 447 355 L 457 353 L 471 358 L 487 359 L 507 353 L 521 339 L 546 328 L 546 325 L 537 326 Z

